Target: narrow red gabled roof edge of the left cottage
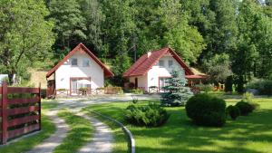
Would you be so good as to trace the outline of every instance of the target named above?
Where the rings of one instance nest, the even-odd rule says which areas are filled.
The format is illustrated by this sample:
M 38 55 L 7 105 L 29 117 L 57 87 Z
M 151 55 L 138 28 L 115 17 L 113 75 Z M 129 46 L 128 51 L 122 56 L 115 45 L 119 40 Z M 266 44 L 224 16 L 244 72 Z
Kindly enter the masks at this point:
M 79 43 L 76 47 L 73 48 L 73 50 L 70 53 L 68 53 L 63 58 L 62 61 L 60 61 L 58 64 L 56 64 L 53 67 L 53 69 L 47 72 L 46 78 L 49 78 L 53 74 L 53 72 L 55 72 L 63 64 L 63 62 L 66 62 L 71 56 L 73 56 L 74 53 L 79 52 L 81 48 L 83 49 L 85 53 L 90 55 L 90 57 L 102 67 L 102 69 L 104 70 L 104 75 L 106 77 L 113 76 L 113 73 L 83 43 Z

